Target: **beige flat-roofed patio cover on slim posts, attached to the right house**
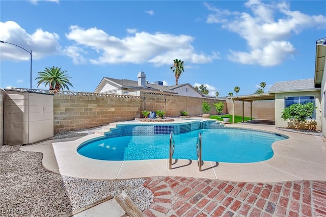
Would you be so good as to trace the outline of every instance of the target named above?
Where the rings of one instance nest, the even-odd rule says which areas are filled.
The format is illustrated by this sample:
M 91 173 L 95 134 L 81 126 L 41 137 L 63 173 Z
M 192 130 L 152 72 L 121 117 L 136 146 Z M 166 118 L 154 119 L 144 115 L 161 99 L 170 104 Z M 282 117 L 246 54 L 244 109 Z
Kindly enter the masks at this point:
M 234 123 L 234 101 L 242 101 L 242 122 L 244 122 L 244 102 L 250 102 L 250 120 L 252 120 L 252 102 L 257 100 L 271 100 L 275 99 L 274 93 L 260 93 L 243 96 L 228 97 L 232 99 L 232 123 Z

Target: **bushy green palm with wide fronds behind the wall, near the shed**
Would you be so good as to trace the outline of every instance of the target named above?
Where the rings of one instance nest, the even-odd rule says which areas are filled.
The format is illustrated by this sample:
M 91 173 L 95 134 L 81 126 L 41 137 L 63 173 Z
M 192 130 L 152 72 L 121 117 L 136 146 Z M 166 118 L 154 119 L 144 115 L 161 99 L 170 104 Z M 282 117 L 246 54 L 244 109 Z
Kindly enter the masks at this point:
M 64 88 L 67 88 L 69 90 L 68 85 L 70 85 L 71 87 L 73 86 L 68 79 L 71 77 L 65 74 L 66 72 L 66 70 L 61 71 L 60 67 L 45 67 L 45 70 L 43 72 L 38 72 L 39 77 L 35 78 L 35 80 L 39 79 L 37 87 L 40 86 L 42 83 L 45 83 L 45 87 L 47 85 L 50 86 L 49 90 L 60 91 L 60 89 L 63 90 Z

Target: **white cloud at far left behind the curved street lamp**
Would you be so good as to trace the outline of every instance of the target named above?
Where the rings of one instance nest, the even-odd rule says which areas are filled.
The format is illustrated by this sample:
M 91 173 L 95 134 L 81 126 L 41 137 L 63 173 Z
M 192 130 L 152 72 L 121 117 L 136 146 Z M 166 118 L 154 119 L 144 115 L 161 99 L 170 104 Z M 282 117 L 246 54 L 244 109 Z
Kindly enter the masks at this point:
M 26 33 L 14 21 L 0 22 L 0 38 L 2 41 L 16 44 L 26 50 L 14 47 L 12 44 L 1 43 L 0 58 L 3 60 L 30 60 L 26 52 L 32 50 L 32 59 L 42 59 L 44 56 L 60 52 L 59 36 L 56 33 L 49 33 L 41 29 L 33 34 Z

